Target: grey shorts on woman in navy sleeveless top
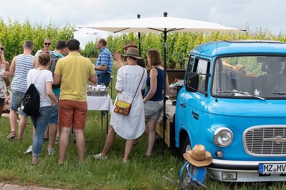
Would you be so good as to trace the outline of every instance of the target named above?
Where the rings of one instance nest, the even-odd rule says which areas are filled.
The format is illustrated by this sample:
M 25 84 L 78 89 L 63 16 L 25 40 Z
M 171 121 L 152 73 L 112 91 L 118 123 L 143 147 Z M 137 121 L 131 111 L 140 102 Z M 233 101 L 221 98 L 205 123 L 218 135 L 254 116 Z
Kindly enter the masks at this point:
M 163 100 L 161 101 L 146 101 L 144 103 L 144 115 L 145 119 L 151 117 L 158 119 L 161 110 L 163 109 Z

